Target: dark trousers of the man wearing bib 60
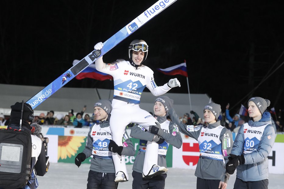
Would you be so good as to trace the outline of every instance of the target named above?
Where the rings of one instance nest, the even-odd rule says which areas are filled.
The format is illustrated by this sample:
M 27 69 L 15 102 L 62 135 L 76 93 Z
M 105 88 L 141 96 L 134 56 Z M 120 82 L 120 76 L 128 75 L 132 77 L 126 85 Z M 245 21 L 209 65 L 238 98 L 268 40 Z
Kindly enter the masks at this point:
M 268 179 L 245 182 L 236 178 L 234 189 L 268 189 Z

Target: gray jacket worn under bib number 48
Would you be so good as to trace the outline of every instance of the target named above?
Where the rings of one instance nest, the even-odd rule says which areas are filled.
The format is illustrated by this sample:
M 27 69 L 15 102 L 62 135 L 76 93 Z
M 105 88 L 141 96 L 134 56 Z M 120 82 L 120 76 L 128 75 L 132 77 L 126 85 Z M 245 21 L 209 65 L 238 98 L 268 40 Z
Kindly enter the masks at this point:
M 99 121 L 99 124 L 100 124 L 100 128 L 108 128 L 109 127 L 109 117 L 104 122 Z M 83 150 L 83 153 L 86 155 L 86 157 L 90 157 L 92 155 L 93 138 L 91 137 L 91 134 L 92 134 L 91 131 L 94 126 L 96 126 L 96 124 L 91 126 L 89 130 L 86 146 L 85 146 L 85 149 Z M 109 132 L 110 132 L 110 129 L 109 129 Z M 134 156 L 135 149 L 126 131 L 125 131 L 125 135 L 127 136 L 127 139 L 125 142 L 127 143 L 128 146 L 123 147 L 121 154 L 125 156 Z M 101 141 L 106 139 L 104 135 L 96 135 L 96 136 L 98 136 L 98 139 L 100 139 Z M 96 171 L 99 173 L 115 173 L 115 168 L 114 168 L 112 159 L 102 159 L 102 158 L 99 158 L 99 156 L 94 156 L 91 159 L 90 170 Z

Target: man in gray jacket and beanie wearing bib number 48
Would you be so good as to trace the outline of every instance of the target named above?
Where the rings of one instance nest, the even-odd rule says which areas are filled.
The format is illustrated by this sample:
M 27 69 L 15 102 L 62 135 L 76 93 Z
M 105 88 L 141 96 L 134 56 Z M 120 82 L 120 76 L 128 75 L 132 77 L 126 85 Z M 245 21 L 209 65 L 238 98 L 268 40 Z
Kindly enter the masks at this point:
M 98 121 L 88 133 L 85 149 L 75 158 L 79 167 L 87 157 L 93 156 L 87 180 L 87 189 L 116 189 L 115 169 L 112 161 L 112 152 L 134 156 L 135 149 L 126 131 L 122 138 L 123 146 L 112 141 L 112 132 L 109 127 L 109 117 L 112 104 L 109 100 L 99 100 L 94 105 L 95 118 Z

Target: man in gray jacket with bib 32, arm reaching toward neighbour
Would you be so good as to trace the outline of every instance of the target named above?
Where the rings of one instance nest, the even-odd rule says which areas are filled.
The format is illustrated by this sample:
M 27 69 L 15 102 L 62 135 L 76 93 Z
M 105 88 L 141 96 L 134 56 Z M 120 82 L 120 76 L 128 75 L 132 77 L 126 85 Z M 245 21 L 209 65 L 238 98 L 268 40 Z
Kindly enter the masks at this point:
M 169 110 L 171 120 L 178 124 L 180 131 L 199 143 L 200 156 L 195 170 L 197 189 L 227 187 L 229 174 L 225 163 L 231 152 L 233 136 L 230 130 L 220 125 L 220 113 L 219 104 L 209 103 L 204 107 L 205 124 L 193 126 L 183 124 L 175 110 Z

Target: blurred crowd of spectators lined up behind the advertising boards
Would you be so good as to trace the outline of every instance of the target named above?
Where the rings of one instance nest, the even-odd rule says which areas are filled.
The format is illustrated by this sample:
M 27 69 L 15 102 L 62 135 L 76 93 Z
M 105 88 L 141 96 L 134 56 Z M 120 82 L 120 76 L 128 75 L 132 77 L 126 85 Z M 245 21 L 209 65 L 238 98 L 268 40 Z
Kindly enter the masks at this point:
M 221 121 L 221 125 L 230 131 L 237 133 L 240 126 L 249 120 L 249 116 L 243 116 L 238 113 L 233 114 L 229 111 L 229 103 L 225 107 L 225 111 L 221 112 L 218 119 Z M 81 112 L 76 113 L 74 115 L 74 110 L 69 110 L 68 114 L 54 114 L 54 111 L 51 110 L 46 114 L 41 113 L 39 116 L 34 116 L 34 123 L 39 125 L 62 125 L 62 126 L 74 126 L 75 128 L 82 128 L 86 126 L 92 126 L 96 122 L 94 113 L 90 116 L 89 114 L 85 114 L 86 107 L 83 107 Z M 153 114 L 152 112 L 149 112 Z M 272 126 L 275 129 L 275 132 L 284 132 L 283 121 L 281 119 L 281 109 L 279 113 L 276 115 L 275 112 L 271 112 L 272 115 Z M 191 114 L 191 116 L 190 116 Z M 180 118 L 180 121 L 183 124 L 187 125 L 202 125 L 204 124 L 204 120 L 199 117 L 199 115 L 193 110 L 189 113 L 184 113 Z M 6 118 L 5 118 L 6 117 Z M 169 116 L 167 117 L 169 119 Z M 4 116 L 3 113 L 0 114 L 0 126 L 8 125 L 9 117 Z M 127 128 L 133 127 L 133 123 L 127 125 Z

